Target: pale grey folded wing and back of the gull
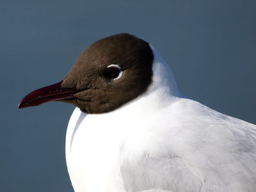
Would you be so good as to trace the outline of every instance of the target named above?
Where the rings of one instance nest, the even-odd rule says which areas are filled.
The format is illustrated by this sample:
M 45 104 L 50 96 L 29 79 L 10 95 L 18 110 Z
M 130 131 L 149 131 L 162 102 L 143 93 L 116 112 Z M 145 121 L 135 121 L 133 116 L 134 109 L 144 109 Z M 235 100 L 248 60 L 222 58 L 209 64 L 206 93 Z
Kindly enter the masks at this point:
M 156 131 L 170 150 L 161 156 L 145 151 L 136 163 L 124 164 L 127 191 L 256 191 L 256 126 L 211 112 L 198 118 L 199 112 L 186 116 L 182 111 L 180 122 Z M 164 121 L 163 116 L 158 126 L 168 124 Z

